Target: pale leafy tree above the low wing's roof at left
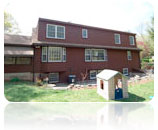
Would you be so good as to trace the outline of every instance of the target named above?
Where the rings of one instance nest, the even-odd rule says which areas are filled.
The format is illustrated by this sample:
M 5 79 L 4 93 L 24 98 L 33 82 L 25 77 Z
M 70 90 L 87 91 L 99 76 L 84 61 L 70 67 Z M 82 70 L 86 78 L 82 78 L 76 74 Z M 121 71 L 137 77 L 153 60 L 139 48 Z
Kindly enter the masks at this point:
M 4 33 L 20 33 L 17 22 L 15 21 L 13 16 L 7 12 L 4 12 Z

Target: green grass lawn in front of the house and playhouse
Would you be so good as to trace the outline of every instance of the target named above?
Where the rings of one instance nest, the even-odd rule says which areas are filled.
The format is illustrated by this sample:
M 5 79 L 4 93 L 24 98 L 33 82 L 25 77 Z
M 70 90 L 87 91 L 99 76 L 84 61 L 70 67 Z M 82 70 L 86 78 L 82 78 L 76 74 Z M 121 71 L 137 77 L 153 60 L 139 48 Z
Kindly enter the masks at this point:
M 31 82 L 5 82 L 5 97 L 13 102 L 107 102 L 96 89 L 52 90 L 35 86 Z M 154 81 L 129 86 L 129 98 L 117 102 L 146 102 L 154 95 Z M 114 102 L 115 100 L 112 100 Z

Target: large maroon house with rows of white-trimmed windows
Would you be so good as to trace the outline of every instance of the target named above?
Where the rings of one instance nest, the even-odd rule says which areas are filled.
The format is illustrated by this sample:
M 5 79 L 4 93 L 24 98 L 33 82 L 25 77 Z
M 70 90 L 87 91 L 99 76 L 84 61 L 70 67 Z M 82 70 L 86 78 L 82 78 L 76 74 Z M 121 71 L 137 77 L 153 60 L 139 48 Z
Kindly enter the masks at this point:
M 67 82 L 69 75 L 75 75 L 76 81 L 79 81 L 81 73 L 88 73 L 87 79 L 96 79 L 97 73 L 103 69 L 128 75 L 134 69 L 141 68 L 135 35 L 39 18 L 32 37 L 25 37 L 25 42 L 15 39 L 8 45 L 5 39 L 5 47 L 18 49 L 22 46 L 24 50 L 33 50 L 33 55 L 29 55 L 29 65 L 5 64 L 5 75 L 29 72 L 32 73 L 32 80 L 49 77 L 50 83 Z M 12 57 L 16 56 L 12 54 Z M 5 63 L 11 60 L 9 57 L 5 54 Z

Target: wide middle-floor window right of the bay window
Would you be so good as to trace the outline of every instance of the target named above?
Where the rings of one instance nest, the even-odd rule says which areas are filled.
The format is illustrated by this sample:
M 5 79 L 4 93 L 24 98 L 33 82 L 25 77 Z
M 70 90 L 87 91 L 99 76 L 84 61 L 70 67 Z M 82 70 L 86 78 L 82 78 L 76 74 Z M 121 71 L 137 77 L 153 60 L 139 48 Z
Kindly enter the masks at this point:
M 107 61 L 105 49 L 85 49 L 85 61 Z

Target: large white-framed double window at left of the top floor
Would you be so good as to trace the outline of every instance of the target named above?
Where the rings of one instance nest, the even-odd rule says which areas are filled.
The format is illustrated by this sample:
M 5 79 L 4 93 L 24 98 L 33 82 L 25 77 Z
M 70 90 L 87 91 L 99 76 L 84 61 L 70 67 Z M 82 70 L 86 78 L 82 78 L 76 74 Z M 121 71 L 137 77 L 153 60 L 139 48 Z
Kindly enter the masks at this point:
M 47 24 L 47 38 L 65 39 L 65 27 L 53 24 Z

